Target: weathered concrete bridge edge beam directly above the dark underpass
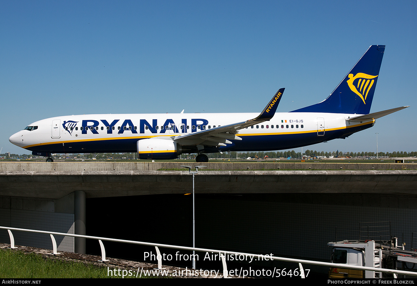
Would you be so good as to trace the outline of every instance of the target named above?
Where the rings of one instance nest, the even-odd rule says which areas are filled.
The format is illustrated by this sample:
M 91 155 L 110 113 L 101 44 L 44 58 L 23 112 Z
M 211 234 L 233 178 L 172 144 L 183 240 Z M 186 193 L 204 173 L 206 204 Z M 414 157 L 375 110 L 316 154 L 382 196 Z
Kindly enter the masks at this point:
M 1 196 L 87 198 L 189 193 L 188 171 L 0 172 Z M 417 171 L 199 171 L 196 193 L 417 193 Z

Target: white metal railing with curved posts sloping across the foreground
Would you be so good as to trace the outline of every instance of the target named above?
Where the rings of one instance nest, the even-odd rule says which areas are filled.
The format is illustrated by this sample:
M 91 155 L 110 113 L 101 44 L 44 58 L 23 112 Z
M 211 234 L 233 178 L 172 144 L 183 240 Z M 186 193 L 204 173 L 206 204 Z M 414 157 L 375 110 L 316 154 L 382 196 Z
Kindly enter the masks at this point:
M 402 270 L 395 270 L 395 269 L 387 269 L 387 268 L 374 268 L 374 267 L 365 267 L 365 266 L 355 266 L 355 265 L 347 265 L 347 264 L 340 264 L 340 263 L 330 263 L 330 262 L 322 262 L 322 261 L 311 261 L 311 260 L 304 260 L 304 259 L 294 259 L 294 258 L 285 258 L 285 257 L 278 257 L 278 256 L 270 256 L 270 255 L 261 255 L 261 254 L 254 254 L 254 253 L 245 253 L 245 252 L 235 252 L 235 251 L 224 251 L 224 250 L 217 250 L 217 249 L 208 249 L 208 248 L 195 248 L 195 247 L 187 247 L 187 246 L 176 246 L 176 245 L 169 245 L 169 244 L 161 244 L 161 243 L 149 243 L 149 242 L 142 242 L 142 241 L 132 241 L 132 240 L 124 240 L 124 239 L 116 239 L 116 238 L 106 238 L 106 237 L 99 237 L 99 236 L 85 236 L 80 234 L 71 234 L 71 233 L 60 233 L 60 232 L 52 232 L 52 231 L 37 231 L 33 229 L 25 229 L 25 228 L 12 228 L 12 227 L 5 227 L 0 226 L 0 229 L 6 229 L 10 236 L 10 248 L 15 247 L 15 240 L 13 238 L 12 230 L 13 231 L 25 231 L 25 232 L 33 232 L 33 233 L 46 233 L 49 234 L 52 240 L 53 245 L 53 253 L 54 255 L 59 254 L 57 252 L 57 246 L 55 242 L 55 238 L 53 235 L 59 236 L 72 236 L 72 237 L 81 237 L 81 238 L 89 238 L 89 239 L 96 239 L 100 243 L 101 248 L 101 261 L 105 262 L 106 260 L 106 251 L 104 249 L 104 245 L 102 241 L 113 241 L 113 242 L 122 242 L 122 243 L 131 243 L 131 244 L 139 244 L 139 245 L 146 245 L 146 246 L 154 246 L 157 253 L 157 260 L 158 260 L 158 269 L 162 268 L 162 256 L 161 252 L 159 251 L 158 247 L 164 248 L 173 248 L 173 249 L 181 249 L 181 250 L 190 250 L 190 251 L 201 251 L 201 252 L 213 252 L 219 253 L 221 257 L 222 264 L 223 264 L 223 276 L 224 278 L 231 278 L 228 276 L 228 270 L 226 265 L 226 255 L 243 255 L 246 257 L 256 257 L 258 259 L 264 260 L 277 260 L 277 261 L 286 261 L 286 262 L 294 262 L 299 264 L 300 268 L 300 277 L 305 278 L 304 275 L 304 268 L 301 266 L 301 263 L 304 264 L 311 264 L 311 265 L 320 265 L 320 266 L 328 266 L 332 268 L 345 268 L 345 269 L 358 269 L 358 270 L 367 270 L 367 271 L 375 271 L 375 272 L 385 272 L 385 273 L 392 273 L 395 275 L 397 274 L 404 274 L 404 275 L 411 275 L 417 276 L 417 272 L 409 272 L 409 271 L 402 271 Z M 195 258 L 195 257 L 194 257 Z M 279 269 L 281 270 L 281 269 Z M 274 269 L 275 271 L 275 269 Z

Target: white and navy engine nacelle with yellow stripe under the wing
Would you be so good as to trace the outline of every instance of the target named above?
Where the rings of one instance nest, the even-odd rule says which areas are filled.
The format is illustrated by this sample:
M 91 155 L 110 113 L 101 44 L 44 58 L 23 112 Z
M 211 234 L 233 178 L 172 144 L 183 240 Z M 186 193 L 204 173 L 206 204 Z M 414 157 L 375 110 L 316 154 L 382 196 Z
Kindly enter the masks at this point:
M 181 154 L 181 146 L 171 138 L 142 139 L 136 143 L 139 159 L 169 160 Z

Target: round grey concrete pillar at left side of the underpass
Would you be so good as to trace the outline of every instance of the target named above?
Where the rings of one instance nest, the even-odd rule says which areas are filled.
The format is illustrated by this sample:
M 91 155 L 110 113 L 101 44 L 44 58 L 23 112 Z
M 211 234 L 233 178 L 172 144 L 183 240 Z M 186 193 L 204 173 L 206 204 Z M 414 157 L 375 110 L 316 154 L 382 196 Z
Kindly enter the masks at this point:
M 74 192 L 74 234 L 85 235 L 85 192 Z M 85 254 L 85 238 L 74 238 L 74 252 Z

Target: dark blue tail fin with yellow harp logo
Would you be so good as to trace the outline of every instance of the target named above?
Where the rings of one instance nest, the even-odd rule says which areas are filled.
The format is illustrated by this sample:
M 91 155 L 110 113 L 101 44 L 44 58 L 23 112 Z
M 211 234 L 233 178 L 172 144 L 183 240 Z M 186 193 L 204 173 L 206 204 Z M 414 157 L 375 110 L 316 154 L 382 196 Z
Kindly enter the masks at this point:
M 370 46 L 326 100 L 291 112 L 368 114 L 384 50 L 384 45 Z

